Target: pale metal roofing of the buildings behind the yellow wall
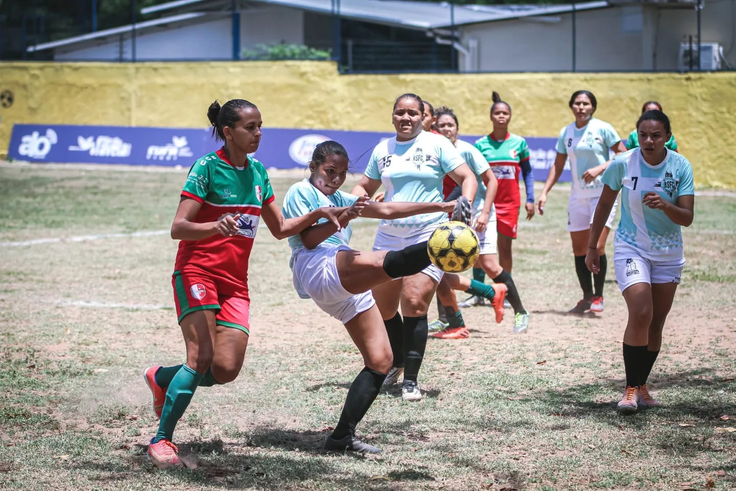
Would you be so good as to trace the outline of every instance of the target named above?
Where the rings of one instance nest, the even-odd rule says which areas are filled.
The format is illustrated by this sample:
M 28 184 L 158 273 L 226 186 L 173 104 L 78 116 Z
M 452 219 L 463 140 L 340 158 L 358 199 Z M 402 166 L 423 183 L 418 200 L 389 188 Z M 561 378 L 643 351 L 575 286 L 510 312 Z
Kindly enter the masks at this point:
M 230 2 L 227 2 L 228 4 Z M 544 15 L 552 15 L 559 13 L 572 12 L 572 4 L 556 4 L 556 5 L 455 5 L 452 6 L 443 1 L 442 3 L 430 3 L 425 1 L 409 1 L 409 0 L 248 0 L 240 5 L 242 9 L 245 5 L 253 6 L 254 4 L 271 4 L 280 5 L 282 7 L 291 7 L 294 9 L 308 10 L 311 12 L 332 14 L 333 5 L 339 4 L 339 13 L 344 18 L 351 18 L 357 21 L 373 22 L 376 24 L 387 24 L 406 29 L 439 29 L 455 26 L 463 26 L 467 24 L 480 24 L 484 22 L 503 21 L 513 18 L 539 17 Z M 69 44 L 80 43 L 88 40 L 105 38 L 113 35 L 120 35 L 135 30 L 144 30 L 151 27 L 161 26 L 164 24 L 174 24 L 183 21 L 189 21 L 195 18 L 202 18 L 205 15 L 213 13 L 227 13 L 223 8 L 224 2 L 217 0 L 174 0 L 158 4 L 153 7 L 141 9 L 142 14 L 163 12 L 165 10 L 173 10 L 178 8 L 194 7 L 200 12 L 187 12 L 169 17 L 157 18 L 152 21 L 143 21 L 127 26 L 114 27 L 113 29 L 105 29 L 89 34 L 74 36 L 50 43 L 36 44 L 29 46 L 26 51 L 35 52 L 44 49 L 59 48 Z M 214 7 L 215 10 L 208 10 L 208 7 Z M 609 3 L 604 0 L 587 1 L 575 4 L 575 10 L 591 10 L 609 7 Z M 453 18 L 451 18 L 453 17 Z

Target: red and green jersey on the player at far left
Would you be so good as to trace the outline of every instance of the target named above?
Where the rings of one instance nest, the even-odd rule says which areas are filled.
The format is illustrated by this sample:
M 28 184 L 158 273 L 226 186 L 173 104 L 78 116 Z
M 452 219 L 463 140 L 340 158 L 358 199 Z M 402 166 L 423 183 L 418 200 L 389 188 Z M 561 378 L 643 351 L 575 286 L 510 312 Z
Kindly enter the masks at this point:
M 240 213 L 240 230 L 233 237 L 218 233 L 198 241 L 180 241 L 174 270 L 194 267 L 242 285 L 247 295 L 248 260 L 261 219 L 261 206 L 274 200 L 263 164 L 248 157 L 244 167 L 237 167 L 219 149 L 191 166 L 181 195 L 202 203 L 193 222 L 215 222 L 224 213 Z

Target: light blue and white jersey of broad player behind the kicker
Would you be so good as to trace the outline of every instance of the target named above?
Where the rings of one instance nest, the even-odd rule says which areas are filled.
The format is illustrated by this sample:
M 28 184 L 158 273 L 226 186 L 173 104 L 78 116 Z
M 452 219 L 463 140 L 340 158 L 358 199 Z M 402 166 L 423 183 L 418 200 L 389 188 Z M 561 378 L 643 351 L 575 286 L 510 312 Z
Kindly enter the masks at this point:
M 389 138 L 375 146 L 365 174 L 381 180 L 386 202 L 441 203 L 445 174 L 461 166 L 463 158 L 442 135 L 422 131 L 409 141 Z M 425 227 L 447 222 L 447 213 L 424 213 L 381 220 L 378 231 L 394 237 L 413 236 Z

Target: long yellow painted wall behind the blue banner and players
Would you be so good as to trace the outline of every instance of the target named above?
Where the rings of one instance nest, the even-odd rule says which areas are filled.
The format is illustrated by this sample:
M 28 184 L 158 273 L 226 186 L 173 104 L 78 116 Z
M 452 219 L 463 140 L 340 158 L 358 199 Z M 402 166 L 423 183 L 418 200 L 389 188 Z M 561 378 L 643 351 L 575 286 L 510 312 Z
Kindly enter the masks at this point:
M 461 133 L 489 130 L 491 91 L 514 111 L 512 130 L 556 136 L 573 121 L 567 100 L 587 89 L 599 119 L 626 138 L 657 99 L 696 173 L 696 186 L 736 188 L 736 73 L 339 75 L 329 62 L 0 63 L 0 149 L 14 123 L 202 127 L 214 99 L 244 98 L 266 127 L 391 131 L 394 97 L 419 93 L 456 111 Z M 267 138 L 266 133 L 266 138 Z

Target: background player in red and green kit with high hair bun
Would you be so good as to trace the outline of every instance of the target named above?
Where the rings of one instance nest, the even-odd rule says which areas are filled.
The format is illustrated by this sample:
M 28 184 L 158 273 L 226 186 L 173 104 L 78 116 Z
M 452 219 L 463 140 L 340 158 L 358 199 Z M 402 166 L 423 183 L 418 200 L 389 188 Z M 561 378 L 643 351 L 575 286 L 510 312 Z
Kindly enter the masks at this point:
M 475 142 L 498 180 L 498 191 L 493 202 L 496 208 L 498 229 L 498 263 L 511 274 L 513 265 L 512 240 L 516 239 L 521 197 L 519 173 L 526 187 L 526 219 L 534 216 L 534 176 L 529 163 L 529 147 L 526 140 L 509 133 L 511 106 L 503 102 L 498 92 L 493 92 L 491 122 L 493 131 Z

